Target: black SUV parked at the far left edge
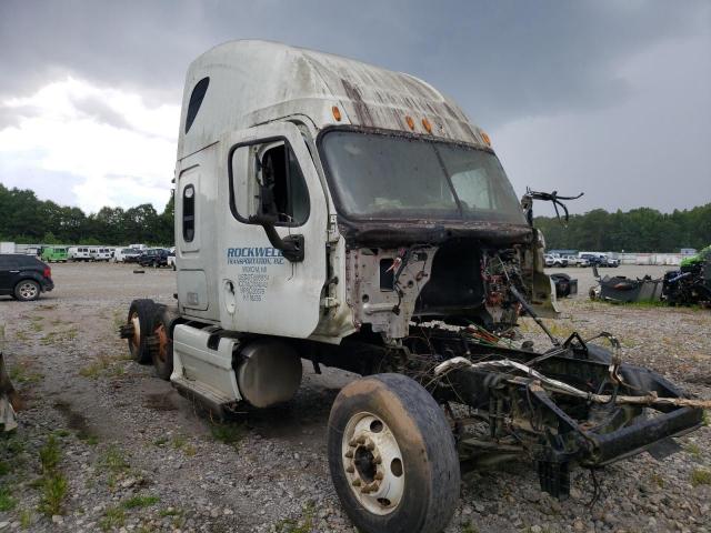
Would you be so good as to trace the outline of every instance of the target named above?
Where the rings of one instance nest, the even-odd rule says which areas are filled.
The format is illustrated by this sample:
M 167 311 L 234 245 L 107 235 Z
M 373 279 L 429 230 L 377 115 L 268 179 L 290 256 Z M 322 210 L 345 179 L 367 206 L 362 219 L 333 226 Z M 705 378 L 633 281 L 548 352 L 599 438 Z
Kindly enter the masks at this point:
M 52 269 L 33 255 L 0 254 L 0 295 L 30 301 L 54 289 Z

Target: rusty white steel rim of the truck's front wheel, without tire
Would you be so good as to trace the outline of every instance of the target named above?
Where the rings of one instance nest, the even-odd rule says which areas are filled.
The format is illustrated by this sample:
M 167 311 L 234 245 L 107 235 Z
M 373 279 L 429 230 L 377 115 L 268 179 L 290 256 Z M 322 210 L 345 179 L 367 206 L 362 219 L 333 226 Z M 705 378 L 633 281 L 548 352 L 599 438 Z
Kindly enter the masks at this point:
M 382 419 L 351 416 L 341 441 L 341 463 L 356 500 L 369 512 L 392 513 L 404 494 L 404 464 L 398 441 Z

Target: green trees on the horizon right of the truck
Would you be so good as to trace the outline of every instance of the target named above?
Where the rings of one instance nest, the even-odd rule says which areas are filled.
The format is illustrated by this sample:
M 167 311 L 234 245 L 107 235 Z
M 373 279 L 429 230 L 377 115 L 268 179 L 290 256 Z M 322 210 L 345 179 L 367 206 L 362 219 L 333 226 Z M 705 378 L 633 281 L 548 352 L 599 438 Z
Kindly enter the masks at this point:
M 537 217 L 534 225 L 545 237 L 548 250 L 611 252 L 679 252 L 701 250 L 711 243 L 711 203 L 662 213 L 639 208 L 609 213 L 594 209 L 573 214 L 567 227 L 555 217 Z

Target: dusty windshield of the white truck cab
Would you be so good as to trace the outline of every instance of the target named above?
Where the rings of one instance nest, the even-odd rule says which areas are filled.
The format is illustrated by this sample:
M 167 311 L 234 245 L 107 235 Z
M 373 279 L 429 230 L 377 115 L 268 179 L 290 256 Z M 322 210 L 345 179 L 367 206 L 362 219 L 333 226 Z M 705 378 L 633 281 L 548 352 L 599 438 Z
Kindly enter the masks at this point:
M 459 219 L 525 224 L 491 152 L 414 137 L 332 130 L 322 158 L 341 211 L 354 219 Z

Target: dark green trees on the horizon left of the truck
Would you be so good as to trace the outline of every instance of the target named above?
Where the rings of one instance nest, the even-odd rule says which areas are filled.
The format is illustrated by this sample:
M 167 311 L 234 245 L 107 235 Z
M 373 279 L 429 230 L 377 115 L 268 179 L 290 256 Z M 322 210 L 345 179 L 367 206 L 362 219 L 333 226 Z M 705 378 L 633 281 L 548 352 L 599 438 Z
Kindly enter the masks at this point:
M 162 213 L 143 203 L 130 209 L 79 208 L 40 200 L 31 190 L 0 183 L 0 240 L 42 244 L 173 244 L 172 194 Z

